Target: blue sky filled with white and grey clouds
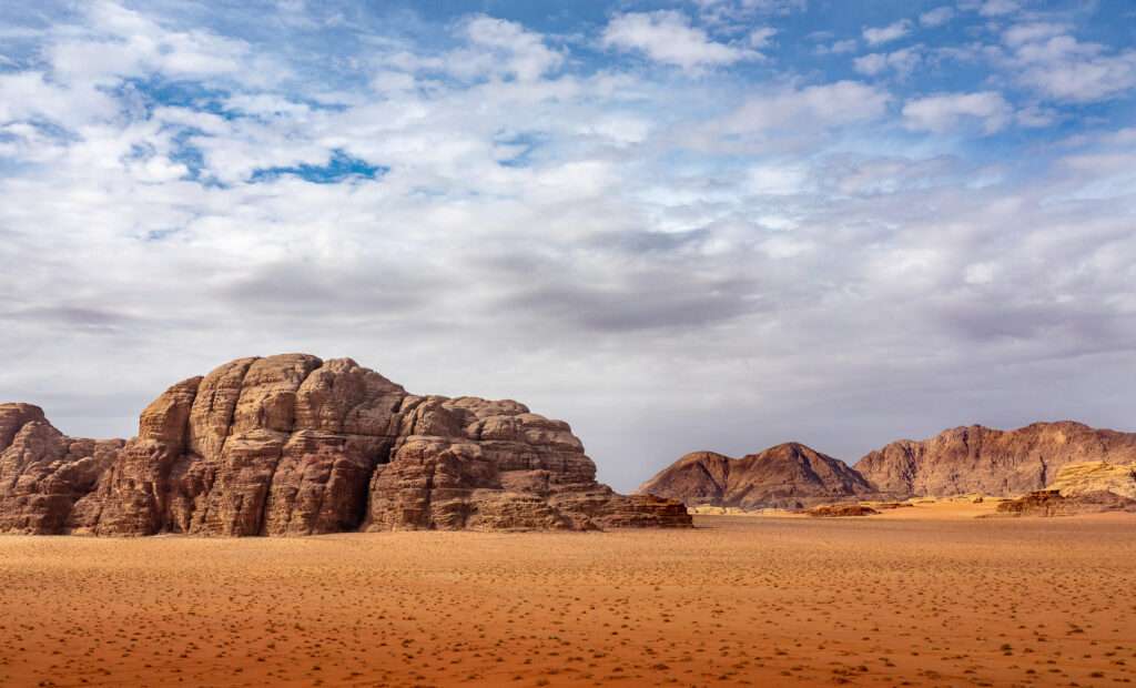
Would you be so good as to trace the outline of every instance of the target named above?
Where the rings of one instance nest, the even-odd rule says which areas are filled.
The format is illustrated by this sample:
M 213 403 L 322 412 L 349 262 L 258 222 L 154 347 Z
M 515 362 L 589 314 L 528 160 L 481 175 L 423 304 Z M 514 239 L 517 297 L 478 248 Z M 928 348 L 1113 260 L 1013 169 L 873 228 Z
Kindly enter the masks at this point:
M 1136 430 L 1127 0 L 0 5 L 0 400 L 350 356 L 686 451 Z

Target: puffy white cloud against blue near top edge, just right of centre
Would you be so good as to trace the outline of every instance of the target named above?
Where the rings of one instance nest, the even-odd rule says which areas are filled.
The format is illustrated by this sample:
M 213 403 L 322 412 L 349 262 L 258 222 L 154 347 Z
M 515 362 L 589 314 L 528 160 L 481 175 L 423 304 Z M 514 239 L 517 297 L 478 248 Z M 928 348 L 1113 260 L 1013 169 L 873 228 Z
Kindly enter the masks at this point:
M 602 43 L 687 71 L 761 57 L 754 50 L 711 40 L 705 31 L 692 26 L 686 15 L 674 10 L 617 15 L 608 23 Z

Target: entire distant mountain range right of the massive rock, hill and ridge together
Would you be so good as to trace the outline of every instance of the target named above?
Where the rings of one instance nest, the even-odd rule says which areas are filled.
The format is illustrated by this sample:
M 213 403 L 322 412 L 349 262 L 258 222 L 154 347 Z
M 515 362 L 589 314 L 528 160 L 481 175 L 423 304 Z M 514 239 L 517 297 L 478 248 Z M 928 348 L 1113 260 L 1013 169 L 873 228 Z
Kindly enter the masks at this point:
M 970 425 L 892 442 L 854 467 L 796 442 L 742 458 L 695 451 L 643 483 L 640 494 L 688 507 L 743 511 L 955 495 L 1017 497 L 1046 488 L 1067 497 L 1103 491 L 1136 499 L 1134 466 L 1136 433 L 1070 421 L 1018 430 Z

